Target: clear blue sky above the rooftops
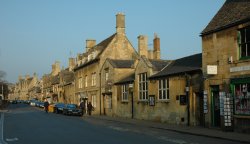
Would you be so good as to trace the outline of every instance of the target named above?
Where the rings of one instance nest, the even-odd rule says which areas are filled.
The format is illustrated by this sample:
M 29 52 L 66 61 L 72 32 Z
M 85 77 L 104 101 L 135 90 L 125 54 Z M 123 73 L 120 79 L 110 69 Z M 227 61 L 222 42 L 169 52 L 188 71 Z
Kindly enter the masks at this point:
M 137 36 L 161 39 L 161 58 L 200 53 L 201 31 L 225 0 L 0 0 L 0 71 L 15 83 L 19 75 L 42 77 L 60 61 L 85 52 L 114 34 L 116 17 L 125 14 L 126 35 L 137 50 Z

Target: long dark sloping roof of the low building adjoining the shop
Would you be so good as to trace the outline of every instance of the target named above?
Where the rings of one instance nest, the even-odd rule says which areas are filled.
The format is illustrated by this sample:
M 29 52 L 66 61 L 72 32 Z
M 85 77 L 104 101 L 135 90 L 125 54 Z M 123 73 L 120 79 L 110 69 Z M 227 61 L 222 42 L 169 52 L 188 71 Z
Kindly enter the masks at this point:
M 191 56 L 183 57 L 173 61 L 166 66 L 162 71 L 152 75 L 150 79 L 160 78 L 175 74 L 188 73 L 201 70 L 202 68 L 202 54 L 194 54 Z

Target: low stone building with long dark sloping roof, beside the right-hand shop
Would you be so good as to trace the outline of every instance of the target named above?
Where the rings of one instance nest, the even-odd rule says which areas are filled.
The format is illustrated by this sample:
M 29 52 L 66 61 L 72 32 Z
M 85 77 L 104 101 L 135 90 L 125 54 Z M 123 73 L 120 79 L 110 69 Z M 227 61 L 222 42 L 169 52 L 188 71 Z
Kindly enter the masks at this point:
M 150 119 L 171 124 L 203 125 L 202 54 L 173 60 L 149 77 Z

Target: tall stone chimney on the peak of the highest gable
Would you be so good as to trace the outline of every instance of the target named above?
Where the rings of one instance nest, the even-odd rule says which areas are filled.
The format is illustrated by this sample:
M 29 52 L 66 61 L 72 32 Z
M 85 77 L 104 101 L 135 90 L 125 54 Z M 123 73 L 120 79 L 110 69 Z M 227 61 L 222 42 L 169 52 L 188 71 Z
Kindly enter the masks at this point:
M 125 34 L 125 15 L 123 13 L 116 15 L 116 33 Z

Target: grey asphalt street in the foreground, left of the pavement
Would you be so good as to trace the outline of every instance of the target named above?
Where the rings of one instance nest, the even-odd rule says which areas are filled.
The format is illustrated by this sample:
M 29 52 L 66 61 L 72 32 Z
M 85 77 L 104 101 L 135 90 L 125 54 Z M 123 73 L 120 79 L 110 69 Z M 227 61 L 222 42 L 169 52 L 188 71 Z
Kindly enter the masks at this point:
M 45 113 L 12 104 L 1 114 L 2 142 L 7 144 L 236 144 L 223 139 L 182 134 L 128 123 Z

